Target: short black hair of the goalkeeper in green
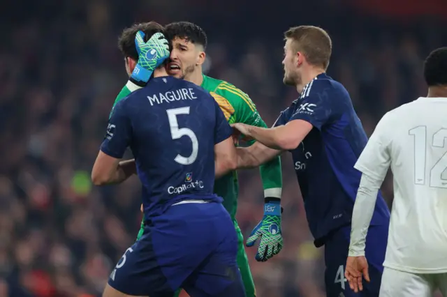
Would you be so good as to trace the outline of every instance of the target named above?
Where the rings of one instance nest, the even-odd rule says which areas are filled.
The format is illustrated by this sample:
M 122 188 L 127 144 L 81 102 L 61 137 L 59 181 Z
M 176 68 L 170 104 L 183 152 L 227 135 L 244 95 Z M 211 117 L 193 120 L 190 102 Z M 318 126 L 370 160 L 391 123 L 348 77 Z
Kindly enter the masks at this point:
M 165 26 L 165 33 L 168 40 L 173 40 L 176 37 L 182 38 L 191 43 L 202 45 L 204 50 L 207 48 L 207 34 L 196 24 L 173 22 Z

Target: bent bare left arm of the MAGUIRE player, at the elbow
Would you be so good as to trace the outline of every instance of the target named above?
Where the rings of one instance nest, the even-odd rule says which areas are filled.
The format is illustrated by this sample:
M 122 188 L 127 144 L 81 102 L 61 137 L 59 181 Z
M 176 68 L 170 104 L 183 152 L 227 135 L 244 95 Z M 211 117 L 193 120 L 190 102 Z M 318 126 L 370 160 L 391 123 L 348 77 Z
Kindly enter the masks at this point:
M 136 174 L 135 159 L 121 161 L 100 151 L 91 170 L 91 181 L 94 185 L 122 183 L 133 174 Z

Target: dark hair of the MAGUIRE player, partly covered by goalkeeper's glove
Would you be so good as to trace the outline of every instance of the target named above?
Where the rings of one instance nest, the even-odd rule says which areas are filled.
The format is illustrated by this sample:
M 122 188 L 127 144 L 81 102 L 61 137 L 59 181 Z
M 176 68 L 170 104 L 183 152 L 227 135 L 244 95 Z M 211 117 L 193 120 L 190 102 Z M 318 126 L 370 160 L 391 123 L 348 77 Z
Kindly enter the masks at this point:
M 129 56 L 134 60 L 138 60 L 138 52 L 135 47 L 135 35 L 138 31 L 145 32 L 145 41 L 147 41 L 155 33 L 164 33 L 164 28 L 157 22 L 147 22 L 133 24 L 130 28 L 124 29 L 118 38 L 118 48 L 125 58 Z

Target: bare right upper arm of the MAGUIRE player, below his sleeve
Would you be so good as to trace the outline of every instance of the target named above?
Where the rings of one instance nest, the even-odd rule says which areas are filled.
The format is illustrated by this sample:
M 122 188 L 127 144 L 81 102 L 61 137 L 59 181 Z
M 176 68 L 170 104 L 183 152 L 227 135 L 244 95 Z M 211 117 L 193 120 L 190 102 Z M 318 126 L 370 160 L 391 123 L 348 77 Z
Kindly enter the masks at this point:
M 216 178 L 220 178 L 228 172 L 235 170 L 236 166 L 237 154 L 233 137 L 228 137 L 223 142 L 214 145 L 214 171 Z

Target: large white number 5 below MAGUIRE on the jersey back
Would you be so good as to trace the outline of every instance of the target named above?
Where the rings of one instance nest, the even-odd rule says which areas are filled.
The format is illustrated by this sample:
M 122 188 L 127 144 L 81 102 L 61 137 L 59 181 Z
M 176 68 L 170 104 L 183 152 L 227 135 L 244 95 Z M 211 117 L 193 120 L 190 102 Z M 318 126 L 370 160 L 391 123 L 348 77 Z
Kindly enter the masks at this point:
M 189 106 L 188 107 L 179 107 L 173 109 L 167 109 L 166 113 L 168 113 L 168 120 L 170 126 L 170 135 L 173 139 L 180 139 L 182 136 L 187 136 L 191 139 L 191 143 L 193 145 L 193 150 L 189 157 L 184 157 L 183 155 L 177 155 L 174 160 L 175 162 L 182 165 L 190 165 L 192 164 L 196 158 L 198 153 L 198 140 L 193 130 L 189 128 L 179 128 L 179 123 L 177 121 L 177 116 L 179 114 L 189 114 Z

